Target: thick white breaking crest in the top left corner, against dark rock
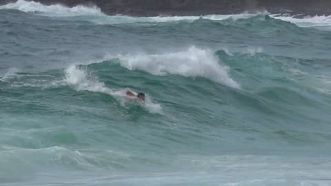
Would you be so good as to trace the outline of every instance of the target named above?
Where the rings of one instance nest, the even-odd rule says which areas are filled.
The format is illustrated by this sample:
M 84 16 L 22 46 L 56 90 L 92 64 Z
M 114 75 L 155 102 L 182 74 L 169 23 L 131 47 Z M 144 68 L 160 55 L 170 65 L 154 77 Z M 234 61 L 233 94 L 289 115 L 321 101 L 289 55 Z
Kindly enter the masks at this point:
M 0 9 L 14 9 L 20 10 L 22 12 L 39 12 L 43 15 L 50 17 L 72 17 L 79 15 L 92 15 L 92 16 L 101 16 L 105 15 L 101 12 L 101 9 L 97 6 L 74 6 L 68 8 L 59 4 L 45 6 L 39 2 L 35 1 L 24 1 L 19 0 L 15 3 L 8 3 L 6 5 L 0 6 Z

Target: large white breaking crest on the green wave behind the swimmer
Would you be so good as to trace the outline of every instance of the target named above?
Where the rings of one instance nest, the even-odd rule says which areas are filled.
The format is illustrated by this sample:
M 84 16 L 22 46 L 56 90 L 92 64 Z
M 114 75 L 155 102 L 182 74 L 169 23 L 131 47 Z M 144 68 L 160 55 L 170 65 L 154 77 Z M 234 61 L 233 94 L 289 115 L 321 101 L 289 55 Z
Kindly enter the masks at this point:
M 119 56 L 119 59 L 121 66 L 128 70 L 143 70 L 156 76 L 200 76 L 229 87 L 240 88 L 239 83 L 228 75 L 229 68 L 221 65 L 211 50 L 192 46 L 181 52 L 126 55 Z

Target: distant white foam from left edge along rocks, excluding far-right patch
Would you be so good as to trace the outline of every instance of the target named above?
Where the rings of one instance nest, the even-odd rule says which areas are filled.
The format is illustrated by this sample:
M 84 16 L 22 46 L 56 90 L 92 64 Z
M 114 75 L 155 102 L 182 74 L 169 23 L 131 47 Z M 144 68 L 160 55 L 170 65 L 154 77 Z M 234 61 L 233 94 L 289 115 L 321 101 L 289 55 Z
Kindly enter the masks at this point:
M 0 6 L 0 9 L 14 9 L 21 10 L 23 12 L 37 12 L 50 17 L 73 17 L 73 16 L 94 16 L 88 19 L 95 23 L 109 24 L 109 23 L 134 23 L 134 22 L 169 22 L 169 21 L 196 21 L 198 19 L 209 19 L 214 21 L 221 21 L 225 19 L 248 19 L 250 17 L 257 16 L 259 14 L 267 14 L 268 12 L 243 12 L 242 14 L 227 14 L 227 15 L 205 15 L 205 16 L 174 16 L 174 17 L 129 17 L 125 15 L 107 16 L 101 12 L 101 9 L 97 6 L 75 6 L 68 8 L 60 4 L 54 4 L 50 6 L 43 5 L 35 1 L 19 0 L 14 3 L 8 3 L 4 6 Z

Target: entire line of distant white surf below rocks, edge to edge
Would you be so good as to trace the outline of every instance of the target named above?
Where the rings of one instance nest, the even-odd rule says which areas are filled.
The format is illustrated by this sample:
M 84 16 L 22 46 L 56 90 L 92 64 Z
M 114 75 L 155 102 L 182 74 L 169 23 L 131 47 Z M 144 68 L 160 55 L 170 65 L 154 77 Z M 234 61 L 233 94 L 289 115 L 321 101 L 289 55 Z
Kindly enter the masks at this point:
M 221 21 L 225 19 L 250 19 L 257 15 L 269 14 L 267 11 L 263 12 L 243 12 L 242 14 L 213 14 L 205 16 L 174 16 L 174 17 L 129 17 L 124 15 L 108 16 L 101 12 L 101 9 L 97 6 L 75 6 L 68 8 L 63 5 L 55 4 L 51 6 L 45 6 L 39 2 L 19 0 L 15 3 L 8 3 L 4 6 L 0 6 L 0 9 L 15 9 L 23 12 L 34 12 L 49 17 L 78 17 L 77 19 L 84 19 L 86 21 L 92 21 L 100 24 L 112 24 L 112 23 L 136 23 L 136 22 L 171 22 L 171 21 L 197 21 L 199 19 L 208 19 L 212 21 Z M 84 17 L 80 17 L 84 16 Z M 325 30 L 331 29 L 331 16 L 315 16 L 304 17 L 303 19 L 295 18 L 295 16 L 286 16 L 281 14 L 270 14 L 270 17 L 274 19 L 281 19 L 283 21 L 289 21 L 295 23 L 300 27 L 315 27 L 324 28 Z M 330 28 L 330 29 L 329 29 Z

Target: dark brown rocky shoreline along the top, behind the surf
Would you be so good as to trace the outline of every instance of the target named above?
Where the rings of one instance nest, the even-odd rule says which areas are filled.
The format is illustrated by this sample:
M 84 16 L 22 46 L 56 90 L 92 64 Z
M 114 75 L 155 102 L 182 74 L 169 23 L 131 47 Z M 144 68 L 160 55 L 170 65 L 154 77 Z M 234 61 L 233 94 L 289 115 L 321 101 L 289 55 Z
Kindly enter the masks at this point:
M 16 0 L 2 0 L 8 3 Z M 126 14 L 137 17 L 157 15 L 237 14 L 267 10 L 270 13 L 331 14 L 330 0 L 34 0 L 50 5 L 61 3 L 72 7 L 95 5 L 105 14 Z

